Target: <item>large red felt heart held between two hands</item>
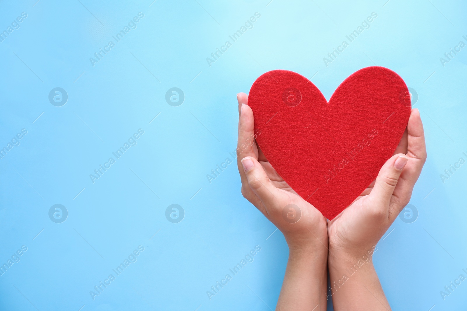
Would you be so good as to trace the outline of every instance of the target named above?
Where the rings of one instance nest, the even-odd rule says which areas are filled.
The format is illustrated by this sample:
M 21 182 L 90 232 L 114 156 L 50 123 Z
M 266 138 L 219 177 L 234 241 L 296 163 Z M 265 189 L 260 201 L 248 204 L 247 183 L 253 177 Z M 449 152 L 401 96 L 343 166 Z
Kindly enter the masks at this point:
M 277 173 L 328 219 L 349 206 L 392 156 L 410 116 L 410 93 L 384 67 L 358 70 L 326 101 L 307 78 L 269 71 L 248 105 L 256 141 Z

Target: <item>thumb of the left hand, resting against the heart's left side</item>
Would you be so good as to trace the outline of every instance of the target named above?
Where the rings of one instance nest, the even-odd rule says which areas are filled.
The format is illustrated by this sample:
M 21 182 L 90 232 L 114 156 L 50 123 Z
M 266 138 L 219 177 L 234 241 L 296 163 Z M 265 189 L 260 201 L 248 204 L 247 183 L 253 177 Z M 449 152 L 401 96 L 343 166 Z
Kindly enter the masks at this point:
M 264 206 L 274 206 L 277 201 L 277 188 L 271 183 L 261 164 L 254 157 L 245 157 L 241 165 L 247 177 L 248 186 L 262 201 Z

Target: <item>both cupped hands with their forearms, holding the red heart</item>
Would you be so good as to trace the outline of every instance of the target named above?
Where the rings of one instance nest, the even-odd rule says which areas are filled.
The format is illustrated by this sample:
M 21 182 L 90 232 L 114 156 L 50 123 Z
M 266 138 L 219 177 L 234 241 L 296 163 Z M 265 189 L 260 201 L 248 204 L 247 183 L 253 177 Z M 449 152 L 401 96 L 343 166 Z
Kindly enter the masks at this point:
M 336 218 L 327 221 L 269 164 L 254 141 L 248 95 L 239 93 L 237 100 L 241 193 L 281 230 L 290 249 L 276 310 L 326 310 L 328 269 L 333 287 L 329 298 L 333 299 L 334 310 L 391 310 L 371 256 L 376 243 L 409 203 L 426 160 L 418 110 L 412 109 L 403 138 L 376 180 Z M 283 216 L 289 204 L 297 206 L 302 214 L 295 223 Z M 358 269 L 350 275 L 348 270 L 355 264 Z

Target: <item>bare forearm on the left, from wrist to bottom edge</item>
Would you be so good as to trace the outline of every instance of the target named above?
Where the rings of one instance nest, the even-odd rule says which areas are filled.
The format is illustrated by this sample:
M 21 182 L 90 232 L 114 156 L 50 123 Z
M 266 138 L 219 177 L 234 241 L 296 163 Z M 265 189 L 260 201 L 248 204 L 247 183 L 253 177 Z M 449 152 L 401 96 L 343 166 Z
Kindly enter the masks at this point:
M 276 310 L 325 311 L 326 286 L 327 252 L 290 249 Z

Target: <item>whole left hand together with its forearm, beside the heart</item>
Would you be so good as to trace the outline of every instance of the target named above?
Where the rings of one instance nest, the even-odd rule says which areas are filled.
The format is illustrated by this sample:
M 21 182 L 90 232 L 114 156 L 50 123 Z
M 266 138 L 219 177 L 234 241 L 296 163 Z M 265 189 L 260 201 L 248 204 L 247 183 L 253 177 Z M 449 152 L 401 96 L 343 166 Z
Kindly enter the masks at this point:
M 248 95 L 239 104 L 237 164 L 241 193 L 283 233 L 289 245 L 276 310 L 324 311 L 327 286 L 327 230 L 325 217 L 303 200 L 268 162 L 255 138 Z M 298 217 L 300 215 L 300 217 Z

